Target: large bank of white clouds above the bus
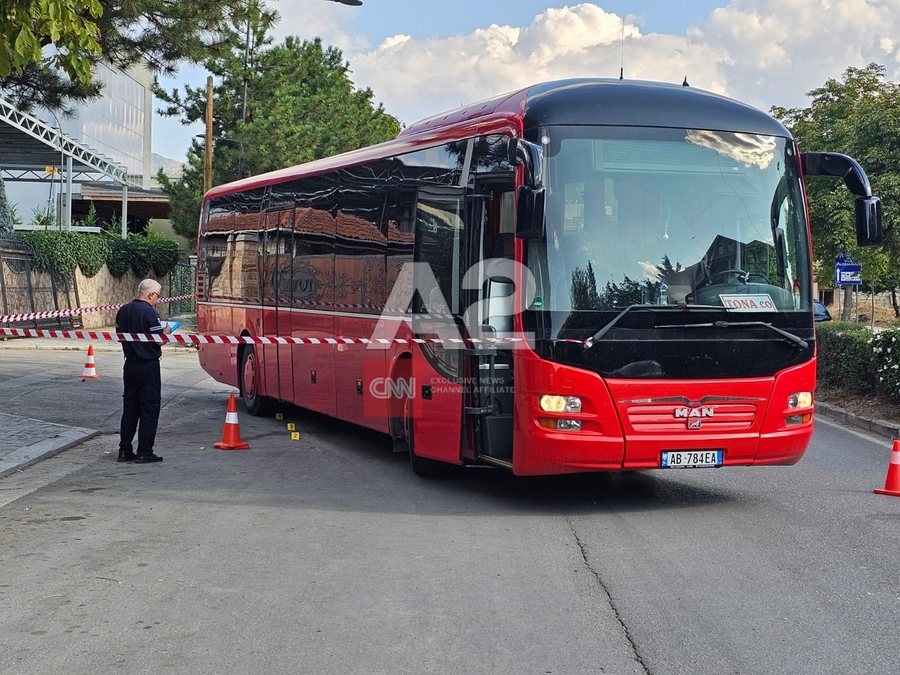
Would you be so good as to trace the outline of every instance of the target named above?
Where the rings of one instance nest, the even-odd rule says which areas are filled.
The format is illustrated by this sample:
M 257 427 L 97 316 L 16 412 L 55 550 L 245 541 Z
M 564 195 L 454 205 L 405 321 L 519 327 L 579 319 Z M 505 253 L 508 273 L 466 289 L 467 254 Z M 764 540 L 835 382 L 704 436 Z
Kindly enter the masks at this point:
M 303 4 L 309 4 L 307 0 Z M 285 4 L 285 3 L 282 3 Z M 593 3 L 549 8 L 525 26 L 397 35 L 347 51 L 354 79 L 406 123 L 529 84 L 618 77 L 623 17 Z M 896 79 L 900 0 L 733 0 L 686 35 L 625 19 L 625 76 L 681 82 L 763 109 L 796 106 L 847 66 L 877 61 Z

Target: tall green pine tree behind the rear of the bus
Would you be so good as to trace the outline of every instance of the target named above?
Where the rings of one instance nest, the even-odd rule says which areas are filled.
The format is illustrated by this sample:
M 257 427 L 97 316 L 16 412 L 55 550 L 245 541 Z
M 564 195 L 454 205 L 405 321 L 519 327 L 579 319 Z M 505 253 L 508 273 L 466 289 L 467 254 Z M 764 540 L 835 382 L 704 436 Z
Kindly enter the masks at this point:
M 371 89 L 356 89 L 349 64 L 336 47 L 318 38 L 289 37 L 271 46 L 271 24 L 251 24 L 244 68 L 244 36 L 229 38 L 230 53 L 206 63 L 217 76 L 213 136 L 213 184 L 308 162 L 395 137 L 399 122 L 373 102 Z M 244 85 L 247 85 L 246 114 Z M 204 119 L 206 90 L 186 87 L 156 95 L 168 103 L 163 114 L 186 124 Z M 194 141 L 182 177 L 160 175 L 172 204 L 172 227 L 196 236 L 203 185 L 203 146 Z

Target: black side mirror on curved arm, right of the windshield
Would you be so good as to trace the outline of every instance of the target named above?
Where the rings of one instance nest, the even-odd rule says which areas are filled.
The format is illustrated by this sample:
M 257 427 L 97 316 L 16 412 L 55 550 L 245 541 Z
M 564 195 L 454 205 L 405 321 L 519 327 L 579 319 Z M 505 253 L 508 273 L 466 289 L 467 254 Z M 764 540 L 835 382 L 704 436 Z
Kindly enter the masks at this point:
M 884 237 L 881 200 L 872 195 L 869 177 L 852 157 L 837 152 L 804 152 L 800 166 L 805 176 L 843 178 L 856 196 L 856 242 L 859 246 L 878 246 Z

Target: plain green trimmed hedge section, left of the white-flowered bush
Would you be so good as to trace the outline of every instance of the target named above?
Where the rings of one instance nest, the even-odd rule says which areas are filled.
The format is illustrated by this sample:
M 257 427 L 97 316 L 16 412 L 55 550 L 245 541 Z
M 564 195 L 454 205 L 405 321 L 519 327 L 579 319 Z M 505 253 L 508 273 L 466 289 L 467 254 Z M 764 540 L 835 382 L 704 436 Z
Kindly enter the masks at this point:
M 818 380 L 830 387 L 856 393 L 872 391 L 875 363 L 872 332 L 864 325 L 849 322 L 816 325 Z

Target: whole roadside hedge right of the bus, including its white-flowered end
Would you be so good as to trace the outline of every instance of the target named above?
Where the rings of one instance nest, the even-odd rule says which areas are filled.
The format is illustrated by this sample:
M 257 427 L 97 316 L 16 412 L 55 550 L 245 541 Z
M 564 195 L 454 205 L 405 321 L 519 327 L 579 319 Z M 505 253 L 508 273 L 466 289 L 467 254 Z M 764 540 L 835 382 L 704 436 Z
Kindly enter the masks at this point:
M 861 324 L 816 326 L 818 380 L 829 387 L 876 392 L 900 403 L 900 329 L 872 333 Z

